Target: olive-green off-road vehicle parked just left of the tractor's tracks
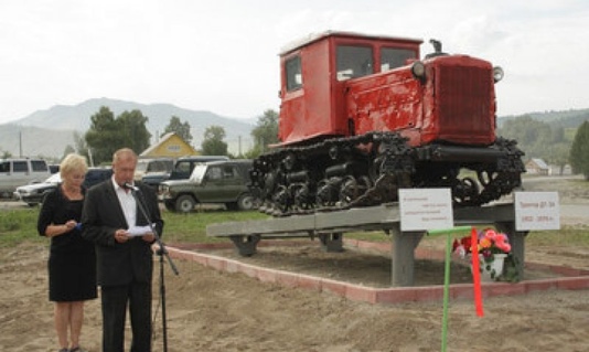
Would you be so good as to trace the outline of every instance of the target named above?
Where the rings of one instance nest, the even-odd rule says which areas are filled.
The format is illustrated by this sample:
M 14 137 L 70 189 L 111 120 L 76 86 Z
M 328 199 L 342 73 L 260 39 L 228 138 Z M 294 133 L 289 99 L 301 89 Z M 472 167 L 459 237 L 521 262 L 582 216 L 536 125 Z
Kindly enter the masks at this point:
M 163 181 L 158 190 L 165 209 L 188 213 L 194 205 L 225 204 L 227 210 L 251 210 L 259 205 L 249 192 L 251 160 L 199 163 L 188 180 Z

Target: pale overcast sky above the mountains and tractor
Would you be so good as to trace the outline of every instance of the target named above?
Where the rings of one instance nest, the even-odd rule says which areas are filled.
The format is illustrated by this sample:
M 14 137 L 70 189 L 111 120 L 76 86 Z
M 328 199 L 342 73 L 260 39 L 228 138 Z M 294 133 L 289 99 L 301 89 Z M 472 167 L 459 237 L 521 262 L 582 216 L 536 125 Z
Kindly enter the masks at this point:
M 497 114 L 589 108 L 586 0 L 2 0 L 0 124 L 107 97 L 253 118 L 310 33 L 438 39 L 500 65 Z

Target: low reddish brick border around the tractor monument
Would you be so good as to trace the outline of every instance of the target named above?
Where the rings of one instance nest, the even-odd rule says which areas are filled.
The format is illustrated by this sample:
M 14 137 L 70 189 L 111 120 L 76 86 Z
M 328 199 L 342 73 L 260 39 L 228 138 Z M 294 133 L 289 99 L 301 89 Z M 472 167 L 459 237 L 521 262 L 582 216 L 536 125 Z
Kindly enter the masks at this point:
M 299 245 L 300 241 L 289 242 L 288 245 Z M 360 249 L 371 249 L 390 253 L 390 244 L 373 243 L 356 239 L 344 239 L 346 246 Z M 272 245 L 272 241 L 265 241 L 264 245 Z M 260 245 L 263 245 L 260 243 Z M 286 241 L 280 241 L 280 245 L 287 245 Z M 202 250 L 216 248 L 231 248 L 232 244 L 193 244 L 193 245 L 169 245 L 168 252 L 172 258 L 193 260 L 206 267 L 228 273 L 242 273 L 261 282 L 272 282 L 286 287 L 298 287 L 302 289 L 330 292 L 350 300 L 365 301 L 371 303 L 400 303 L 418 301 L 441 301 L 443 297 L 443 286 L 419 286 L 419 287 L 390 287 L 373 288 L 354 285 L 333 279 L 315 277 L 306 274 L 297 274 L 285 270 L 277 270 L 256 265 L 245 264 L 239 260 L 215 256 Z M 194 252 L 199 249 L 201 252 Z M 416 249 L 416 257 L 427 257 L 430 259 L 442 259 L 445 254 L 441 250 Z M 543 264 L 526 263 L 526 266 L 542 268 L 563 275 L 558 278 L 523 280 L 517 284 L 508 282 L 483 282 L 481 285 L 483 297 L 493 296 L 515 296 L 527 295 L 534 291 L 551 289 L 579 290 L 589 289 L 589 271 L 567 267 L 547 266 Z M 472 299 L 472 284 L 450 285 L 451 299 Z

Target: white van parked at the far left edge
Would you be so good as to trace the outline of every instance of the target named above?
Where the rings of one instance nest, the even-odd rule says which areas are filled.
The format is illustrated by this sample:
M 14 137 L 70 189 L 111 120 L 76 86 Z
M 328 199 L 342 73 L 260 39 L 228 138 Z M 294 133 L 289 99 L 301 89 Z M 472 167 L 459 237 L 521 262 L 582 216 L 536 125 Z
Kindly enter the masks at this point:
M 11 198 L 19 185 L 43 182 L 50 175 L 43 159 L 0 159 L 0 198 Z

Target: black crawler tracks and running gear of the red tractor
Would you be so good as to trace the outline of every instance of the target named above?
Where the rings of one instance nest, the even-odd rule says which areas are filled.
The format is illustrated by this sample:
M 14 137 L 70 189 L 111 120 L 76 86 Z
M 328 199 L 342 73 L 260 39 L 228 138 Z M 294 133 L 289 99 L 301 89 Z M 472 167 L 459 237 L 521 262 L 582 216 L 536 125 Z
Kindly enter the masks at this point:
M 511 193 L 525 172 L 516 142 L 413 148 L 396 132 L 288 147 L 260 156 L 251 189 L 275 216 L 371 206 L 397 200 L 399 188 L 450 188 L 457 205 L 481 205 Z M 460 177 L 471 170 L 472 177 Z

